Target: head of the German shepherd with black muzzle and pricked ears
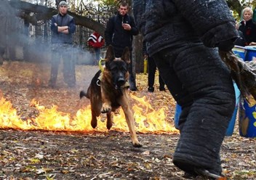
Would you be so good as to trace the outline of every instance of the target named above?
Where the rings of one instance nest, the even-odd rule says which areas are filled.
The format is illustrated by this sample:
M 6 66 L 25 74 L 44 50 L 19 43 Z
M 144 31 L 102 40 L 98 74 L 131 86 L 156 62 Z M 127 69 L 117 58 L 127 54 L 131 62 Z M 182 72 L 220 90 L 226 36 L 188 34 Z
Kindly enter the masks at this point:
M 129 48 L 125 47 L 124 52 L 121 57 L 115 57 L 113 52 L 113 46 L 108 46 L 106 56 L 105 56 L 105 70 L 104 74 L 107 75 L 116 89 L 128 81 L 129 78 Z

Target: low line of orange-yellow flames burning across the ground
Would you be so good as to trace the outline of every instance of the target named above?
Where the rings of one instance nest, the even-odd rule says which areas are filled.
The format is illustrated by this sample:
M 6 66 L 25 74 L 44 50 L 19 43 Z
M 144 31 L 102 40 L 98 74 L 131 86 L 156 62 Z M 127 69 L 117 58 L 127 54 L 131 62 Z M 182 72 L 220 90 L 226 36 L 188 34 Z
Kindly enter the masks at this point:
M 138 103 L 132 107 L 135 117 L 135 129 L 137 132 L 147 134 L 178 134 L 179 131 L 172 122 L 165 120 L 167 107 L 154 110 L 146 97 L 135 97 L 132 99 Z M 100 115 L 97 120 L 97 128 L 91 127 L 90 105 L 77 111 L 75 117 L 71 118 L 69 113 L 57 110 L 56 105 L 46 108 L 39 105 L 36 99 L 32 99 L 31 106 L 36 107 L 39 115 L 36 118 L 23 120 L 17 115 L 17 110 L 12 107 L 12 103 L 1 97 L 0 100 L 0 128 L 15 128 L 20 130 L 43 130 L 43 131 L 107 131 L 105 115 Z M 116 131 L 128 132 L 128 126 L 124 118 L 123 110 L 113 115 L 113 126 Z

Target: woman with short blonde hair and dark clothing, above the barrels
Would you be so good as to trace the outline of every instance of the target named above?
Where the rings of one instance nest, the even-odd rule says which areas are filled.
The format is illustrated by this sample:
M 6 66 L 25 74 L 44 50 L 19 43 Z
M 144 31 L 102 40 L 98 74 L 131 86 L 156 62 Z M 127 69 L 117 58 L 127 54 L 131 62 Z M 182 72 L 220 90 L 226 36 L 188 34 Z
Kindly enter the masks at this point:
M 244 40 L 241 46 L 249 46 L 256 44 L 256 24 L 252 21 L 253 11 L 250 7 L 243 10 L 243 20 L 239 23 L 239 31 L 241 38 Z

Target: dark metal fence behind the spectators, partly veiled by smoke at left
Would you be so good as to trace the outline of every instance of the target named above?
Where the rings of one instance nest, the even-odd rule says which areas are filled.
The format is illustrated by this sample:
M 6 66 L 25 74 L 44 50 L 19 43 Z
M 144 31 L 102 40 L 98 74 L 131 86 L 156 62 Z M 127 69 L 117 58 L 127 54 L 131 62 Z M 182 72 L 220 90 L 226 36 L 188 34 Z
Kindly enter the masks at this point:
M 106 25 L 108 19 L 116 13 L 116 7 L 95 7 L 94 4 L 85 5 L 82 2 L 79 7 L 71 7 L 71 12 L 93 19 L 103 25 Z M 8 5 L 8 3 L 5 4 Z M 50 4 L 48 7 L 52 6 Z M 0 5 L 0 9 L 3 10 L 3 4 Z M 0 50 L 4 49 L 4 54 L 0 54 L 0 59 L 2 56 L 4 60 L 49 62 L 51 59 L 50 41 L 52 33 L 50 30 L 50 20 L 40 20 L 36 25 L 32 25 L 19 17 L 15 17 L 14 12 L 9 11 L 7 13 L 8 9 L 4 10 L 0 11 Z M 32 12 L 23 13 L 33 15 Z M 77 44 L 76 49 L 74 49 L 75 53 L 73 54 L 78 54 L 79 57 L 76 59 L 83 64 L 87 64 L 90 61 L 89 59 L 92 58 L 92 53 L 90 53 L 92 49 L 87 44 L 87 39 L 92 31 L 92 29 L 77 25 L 76 33 L 73 35 L 74 41 Z M 134 43 L 137 45 L 140 44 L 140 46 L 137 46 L 136 51 L 134 51 L 135 53 L 133 52 L 132 60 L 136 62 L 133 63 L 133 65 L 136 65 L 136 71 L 138 70 L 140 72 L 143 71 L 143 67 L 140 67 L 143 64 L 141 52 L 142 37 L 135 38 L 134 40 Z M 105 48 L 105 46 L 102 47 L 103 54 L 101 57 L 104 57 Z

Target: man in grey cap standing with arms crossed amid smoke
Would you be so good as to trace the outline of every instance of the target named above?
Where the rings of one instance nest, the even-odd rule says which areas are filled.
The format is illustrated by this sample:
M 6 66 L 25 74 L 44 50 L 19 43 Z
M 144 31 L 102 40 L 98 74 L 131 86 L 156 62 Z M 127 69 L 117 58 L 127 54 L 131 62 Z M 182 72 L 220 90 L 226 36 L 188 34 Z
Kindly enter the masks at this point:
M 58 5 L 59 13 L 52 16 L 52 69 L 49 79 L 49 86 L 55 87 L 57 81 L 57 71 L 61 57 L 63 58 L 63 76 L 65 83 L 69 87 L 76 85 L 75 61 L 71 57 L 73 44 L 72 34 L 76 31 L 73 17 L 68 15 L 68 4 L 60 1 Z

